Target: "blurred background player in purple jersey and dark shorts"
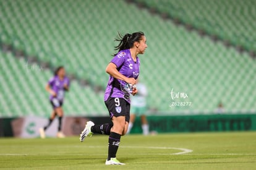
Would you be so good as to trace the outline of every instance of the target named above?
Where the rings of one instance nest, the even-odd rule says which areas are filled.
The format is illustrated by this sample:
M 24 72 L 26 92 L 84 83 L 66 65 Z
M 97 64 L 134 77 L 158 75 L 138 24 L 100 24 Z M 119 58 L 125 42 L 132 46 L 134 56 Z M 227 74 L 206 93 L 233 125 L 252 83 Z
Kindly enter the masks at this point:
M 46 91 L 49 92 L 49 100 L 53 106 L 51 117 L 49 118 L 48 125 L 39 129 L 40 137 L 45 138 L 45 130 L 53 122 L 56 116 L 59 116 L 59 127 L 57 137 L 63 138 L 64 134 L 61 132 L 61 122 L 63 116 L 62 104 L 64 100 L 64 91 L 69 91 L 69 78 L 66 77 L 66 72 L 63 66 L 58 67 L 46 85 Z

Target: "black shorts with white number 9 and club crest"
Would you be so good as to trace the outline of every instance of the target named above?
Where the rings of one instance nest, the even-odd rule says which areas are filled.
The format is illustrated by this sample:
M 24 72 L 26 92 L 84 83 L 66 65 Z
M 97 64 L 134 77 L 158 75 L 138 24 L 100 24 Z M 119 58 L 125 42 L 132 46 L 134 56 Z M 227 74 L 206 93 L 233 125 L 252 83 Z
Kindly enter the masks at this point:
M 126 122 L 130 121 L 130 103 L 126 100 L 123 98 L 109 98 L 105 101 L 105 104 L 111 119 L 113 116 L 126 116 Z

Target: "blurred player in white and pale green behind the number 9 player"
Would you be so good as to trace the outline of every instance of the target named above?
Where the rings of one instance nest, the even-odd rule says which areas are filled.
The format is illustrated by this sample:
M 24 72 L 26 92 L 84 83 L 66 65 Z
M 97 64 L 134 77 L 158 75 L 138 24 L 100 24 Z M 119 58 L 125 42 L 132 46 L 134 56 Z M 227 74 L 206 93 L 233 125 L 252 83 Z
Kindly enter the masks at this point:
M 149 134 L 149 125 L 147 121 L 147 117 L 145 116 L 145 112 L 147 111 L 147 87 L 139 82 L 137 79 L 136 88 L 138 90 L 137 95 L 132 96 L 130 101 L 130 122 L 127 130 L 127 134 L 130 133 L 132 126 L 134 125 L 134 121 L 136 116 L 140 116 L 140 120 L 142 122 L 142 131 L 143 135 Z

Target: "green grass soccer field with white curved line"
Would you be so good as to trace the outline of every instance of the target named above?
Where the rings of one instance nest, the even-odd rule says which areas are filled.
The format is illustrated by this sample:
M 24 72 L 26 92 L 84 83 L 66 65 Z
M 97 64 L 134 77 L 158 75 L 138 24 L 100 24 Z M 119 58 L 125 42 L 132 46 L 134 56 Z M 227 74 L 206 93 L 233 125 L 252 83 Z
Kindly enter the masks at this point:
M 103 135 L 83 143 L 79 137 L 0 138 L 0 168 L 256 169 L 256 132 L 127 135 L 117 153 L 125 166 L 105 166 L 107 152 Z

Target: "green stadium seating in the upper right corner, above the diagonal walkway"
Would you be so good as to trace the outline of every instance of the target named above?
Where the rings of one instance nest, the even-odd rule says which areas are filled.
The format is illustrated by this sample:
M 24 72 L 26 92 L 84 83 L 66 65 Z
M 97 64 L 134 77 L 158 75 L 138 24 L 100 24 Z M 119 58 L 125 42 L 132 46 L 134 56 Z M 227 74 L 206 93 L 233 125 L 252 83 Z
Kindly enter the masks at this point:
M 239 0 L 135 0 L 169 14 L 195 28 L 256 51 L 256 1 Z

